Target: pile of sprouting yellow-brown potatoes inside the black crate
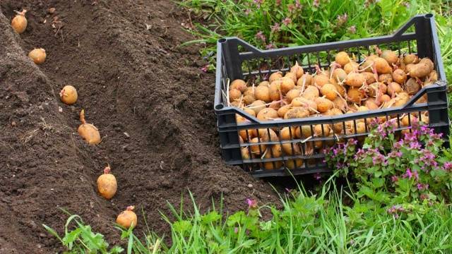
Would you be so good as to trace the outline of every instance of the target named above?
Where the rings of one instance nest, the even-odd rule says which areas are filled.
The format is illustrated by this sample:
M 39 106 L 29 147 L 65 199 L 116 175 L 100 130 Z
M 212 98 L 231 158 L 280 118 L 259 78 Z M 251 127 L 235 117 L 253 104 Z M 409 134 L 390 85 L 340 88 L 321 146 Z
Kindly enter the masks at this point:
M 339 116 L 357 111 L 369 111 L 405 105 L 419 90 L 433 85 L 438 79 L 434 63 L 428 58 L 420 59 L 416 54 L 398 56 L 391 50 L 376 48 L 376 54 L 357 63 L 347 52 L 335 55 L 328 69 L 316 66 L 316 73 L 304 71 L 295 63 L 286 73 L 271 73 L 268 80 L 249 84 L 244 80 L 233 80 L 228 87 L 227 99 L 233 107 L 242 109 L 260 121 L 277 119 L 301 119 L 312 116 Z M 427 102 L 427 95 L 416 103 Z M 412 114 L 411 119 L 420 116 Z M 427 113 L 422 121 L 428 122 Z M 247 120 L 236 115 L 237 123 Z M 386 121 L 386 117 L 376 119 Z M 311 154 L 314 149 L 331 145 L 316 140 L 312 143 L 285 143 L 284 140 L 315 137 L 331 137 L 366 133 L 371 119 L 358 119 L 335 124 L 316 126 L 292 126 L 278 131 L 273 129 L 249 129 L 239 131 L 240 142 L 258 143 L 280 141 L 272 145 L 250 145 L 242 147 L 242 157 L 276 158 L 284 155 Z M 396 121 L 397 124 L 397 121 Z M 400 117 L 400 125 L 408 126 L 407 115 Z M 333 139 L 332 139 L 333 140 Z M 304 153 L 302 152 L 304 150 Z M 251 152 L 251 154 L 250 154 Z M 300 167 L 302 159 L 285 162 L 285 167 Z M 283 162 L 266 162 L 265 169 L 282 167 Z

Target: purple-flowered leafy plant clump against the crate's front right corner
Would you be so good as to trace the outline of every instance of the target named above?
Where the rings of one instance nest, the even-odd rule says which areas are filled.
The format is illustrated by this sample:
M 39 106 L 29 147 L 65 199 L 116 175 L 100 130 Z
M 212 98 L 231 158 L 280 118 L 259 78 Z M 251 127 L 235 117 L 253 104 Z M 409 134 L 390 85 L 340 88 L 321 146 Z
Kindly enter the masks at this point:
M 441 148 L 441 133 L 415 118 L 408 129 L 395 131 L 394 121 L 372 123 L 362 146 L 348 140 L 328 149 L 326 162 L 342 174 L 352 173 L 358 197 L 388 207 L 390 214 L 408 211 L 403 203 L 450 201 L 452 163 Z

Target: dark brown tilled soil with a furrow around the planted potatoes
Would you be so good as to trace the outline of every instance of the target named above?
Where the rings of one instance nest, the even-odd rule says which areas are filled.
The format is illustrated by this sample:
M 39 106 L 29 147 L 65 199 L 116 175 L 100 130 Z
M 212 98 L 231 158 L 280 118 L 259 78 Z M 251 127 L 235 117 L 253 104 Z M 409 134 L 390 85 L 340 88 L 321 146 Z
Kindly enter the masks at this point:
M 28 28 L 16 35 L 10 23 L 21 8 Z M 0 2 L 0 253 L 60 248 L 41 225 L 61 233 L 59 207 L 115 244 L 114 220 L 127 205 L 143 207 L 150 229 L 167 233 L 159 211 L 169 214 L 167 202 L 178 205 L 188 189 L 203 209 L 221 195 L 230 212 L 246 198 L 277 202 L 268 184 L 222 161 L 214 75 L 200 70 L 196 47 L 178 47 L 193 39 L 184 22 L 167 0 Z M 35 47 L 47 51 L 40 66 L 27 56 Z M 66 84 L 78 89 L 72 107 L 59 101 Z M 78 136 L 81 109 L 100 145 Z M 119 184 L 110 201 L 95 186 L 107 163 Z

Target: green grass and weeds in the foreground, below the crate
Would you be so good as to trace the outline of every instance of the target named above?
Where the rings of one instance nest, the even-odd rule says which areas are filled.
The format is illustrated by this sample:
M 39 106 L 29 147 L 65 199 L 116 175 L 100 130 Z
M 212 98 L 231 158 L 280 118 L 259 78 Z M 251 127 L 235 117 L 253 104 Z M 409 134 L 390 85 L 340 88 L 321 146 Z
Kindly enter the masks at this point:
M 329 188 L 331 186 L 331 189 Z M 442 203 L 424 210 L 412 210 L 412 219 L 400 219 L 391 214 L 375 212 L 369 205 L 355 202 L 344 204 L 344 198 L 355 200 L 354 193 L 343 196 L 332 181 L 318 195 L 309 195 L 302 187 L 281 195 L 282 209 L 251 205 L 247 212 L 223 214 L 221 207 L 211 207 L 202 213 L 194 198 L 192 213 L 184 207 L 171 207 L 172 217 L 164 216 L 171 226 L 171 246 L 157 235 L 145 233 L 145 241 L 132 230 L 122 231 L 123 250 L 107 250 L 102 235 L 84 232 L 79 217 L 72 215 L 66 223 L 65 236 L 57 236 L 69 253 L 448 253 L 452 250 L 452 209 Z M 266 212 L 269 220 L 260 216 Z M 143 214 L 144 217 L 144 214 Z M 68 230 L 70 222 L 76 228 Z M 92 238 L 101 243 L 92 245 Z M 68 241 L 73 243 L 72 249 Z M 93 246 L 97 246 L 93 248 Z M 105 246 L 99 248 L 98 246 Z

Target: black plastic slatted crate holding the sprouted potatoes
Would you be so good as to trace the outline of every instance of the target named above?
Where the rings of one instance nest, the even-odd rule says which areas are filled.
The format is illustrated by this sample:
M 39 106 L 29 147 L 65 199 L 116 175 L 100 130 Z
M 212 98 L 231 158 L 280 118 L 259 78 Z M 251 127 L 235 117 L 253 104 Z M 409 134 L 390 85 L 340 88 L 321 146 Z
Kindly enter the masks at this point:
M 334 61 L 335 53 L 340 51 L 355 54 L 360 62 L 365 55 L 371 54 L 371 49 L 374 46 L 378 46 L 381 49 L 392 49 L 398 52 L 399 55 L 415 53 L 420 58 L 429 57 L 434 61 L 438 81 L 434 85 L 423 87 L 403 107 L 390 107 L 388 109 L 377 109 L 341 116 L 314 116 L 304 119 L 259 121 L 256 117 L 246 114 L 241 109 L 227 106 L 225 93 L 227 86 L 232 80 L 266 80 L 271 73 L 276 71 L 286 73 L 290 70 L 290 66 L 295 64 L 295 61 L 304 68 L 305 72 L 314 73 L 316 65 L 321 67 L 330 66 L 331 62 Z M 291 174 L 299 175 L 331 171 L 324 162 L 325 155 L 322 152 L 322 148 L 346 141 L 349 138 L 364 139 L 369 131 L 368 120 L 377 117 L 385 117 L 386 120 L 396 118 L 397 129 L 401 131 L 409 129 L 412 114 L 416 114 L 422 121 L 422 116 L 425 116 L 425 112 L 428 112 L 429 126 L 434 128 L 436 133 L 444 133 L 446 145 L 448 145 L 446 138 L 449 133 L 446 74 L 444 73 L 434 16 L 432 14 L 415 16 L 393 35 L 388 36 L 271 50 L 256 49 L 256 47 L 237 37 L 228 37 L 218 40 L 217 50 L 214 107 L 215 114 L 218 117 L 217 125 L 222 157 L 227 164 L 242 165 L 245 171 L 249 171 L 256 177 L 289 176 Z M 266 67 L 262 68 L 263 66 Z M 426 94 L 427 103 L 415 103 Z M 237 124 L 236 114 L 247 119 L 247 123 Z M 408 116 L 408 126 L 400 123 L 400 120 L 405 116 Z M 357 120 L 363 121 L 363 119 L 366 132 L 357 133 Z M 345 123 L 352 123 L 355 131 L 347 133 L 345 131 Z M 323 126 L 327 124 L 331 126 L 333 124 L 343 124 L 344 133 L 326 136 L 323 132 Z M 285 127 L 299 127 L 300 130 L 303 127 L 312 131 L 316 125 L 321 126 L 322 135 L 309 140 L 301 137 L 297 138 L 292 133 L 292 129 L 289 128 L 291 129 L 290 140 L 281 140 L 279 138 L 279 140 L 263 142 L 258 137 L 258 143 L 252 144 L 290 144 L 292 152 L 283 151 L 280 157 L 273 157 L 272 155 L 270 158 L 250 157 L 249 159 L 242 159 L 241 148 L 246 147 L 250 152 L 249 155 L 251 155 L 249 148 L 251 143 L 249 141 L 240 143 L 239 131 L 246 131 L 246 135 L 248 135 L 249 131 L 263 129 L 270 135 L 269 129 L 275 130 L 275 133 L 280 133 L 279 131 Z M 294 152 L 294 145 L 297 145 L 301 152 Z M 314 148 L 311 153 L 312 146 L 317 148 Z M 260 146 L 258 147 L 261 149 Z

